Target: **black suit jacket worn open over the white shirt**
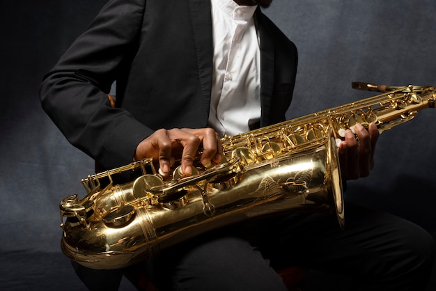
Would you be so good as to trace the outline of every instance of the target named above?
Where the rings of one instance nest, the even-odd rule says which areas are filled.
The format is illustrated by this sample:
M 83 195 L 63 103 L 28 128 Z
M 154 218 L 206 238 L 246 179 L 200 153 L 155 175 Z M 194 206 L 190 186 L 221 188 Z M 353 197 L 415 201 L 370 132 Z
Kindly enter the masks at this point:
M 256 19 L 264 126 L 285 119 L 297 49 L 260 9 Z M 70 143 L 114 168 L 155 129 L 205 127 L 211 81 L 210 0 L 111 0 L 45 76 L 40 97 Z

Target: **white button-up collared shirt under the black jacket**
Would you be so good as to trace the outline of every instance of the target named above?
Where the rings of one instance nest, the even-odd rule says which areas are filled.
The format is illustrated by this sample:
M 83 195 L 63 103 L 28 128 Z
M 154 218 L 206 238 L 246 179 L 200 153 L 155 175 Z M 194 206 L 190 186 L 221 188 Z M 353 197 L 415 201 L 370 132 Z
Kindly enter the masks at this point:
M 221 136 L 249 131 L 260 119 L 260 49 L 257 6 L 210 0 L 213 72 L 208 125 Z

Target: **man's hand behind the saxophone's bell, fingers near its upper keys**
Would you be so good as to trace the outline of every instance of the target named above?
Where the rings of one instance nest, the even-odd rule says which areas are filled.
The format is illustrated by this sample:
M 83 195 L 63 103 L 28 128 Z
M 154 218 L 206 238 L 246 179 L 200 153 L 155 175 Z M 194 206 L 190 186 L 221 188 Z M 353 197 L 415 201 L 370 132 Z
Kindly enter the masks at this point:
M 379 132 L 375 123 L 366 130 L 362 125 L 355 125 L 355 134 L 348 129 L 345 140 L 338 146 L 339 163 L 343 180 L 355 180 L 366 177 L 374 167 L 375 143 Z

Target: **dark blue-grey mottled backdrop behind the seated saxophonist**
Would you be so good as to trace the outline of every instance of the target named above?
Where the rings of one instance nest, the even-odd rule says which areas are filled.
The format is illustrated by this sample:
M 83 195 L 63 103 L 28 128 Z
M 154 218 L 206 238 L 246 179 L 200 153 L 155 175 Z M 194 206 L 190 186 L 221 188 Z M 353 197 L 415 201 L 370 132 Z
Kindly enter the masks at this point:
M 60 254 L 58 205 L 84 196 L 80 179 L 93 173 L 93 161 L 45 116 L 38 86 L 105 2 L 0 3 L 0 289 L 80 286 Z M 370 95 L 352 90 L 352 81 L 436 86 L 435 1 L 275 0 L 265 13 L 299 49 L 289 118 Z M 346 197 L 434 233 L 435 116 L 426 109 L 384 132 L 373 172 L 350 182 Z

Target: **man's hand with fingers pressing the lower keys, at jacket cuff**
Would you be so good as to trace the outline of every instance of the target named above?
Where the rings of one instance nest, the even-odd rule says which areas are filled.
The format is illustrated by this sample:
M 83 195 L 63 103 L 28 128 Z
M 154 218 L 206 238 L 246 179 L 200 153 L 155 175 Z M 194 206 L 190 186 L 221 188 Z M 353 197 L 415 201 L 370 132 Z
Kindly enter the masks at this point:
M 201 144 L 201 163 L 205 166 L 211 162 L 219 164 L 223 157 L 223 148 L 219 135 L 211 128 L 159 129 L 139 143 L 134 159 L 139 161 L 153 157 L 155 161 L 159 161 L 160 171 L 164 175 L 169 174 L 171 160 L 180 159 L 182 172 L 191 175 L 194 158 Z

